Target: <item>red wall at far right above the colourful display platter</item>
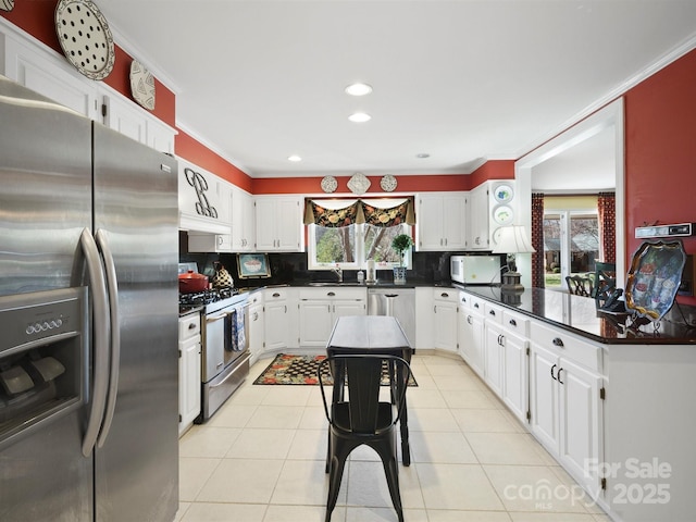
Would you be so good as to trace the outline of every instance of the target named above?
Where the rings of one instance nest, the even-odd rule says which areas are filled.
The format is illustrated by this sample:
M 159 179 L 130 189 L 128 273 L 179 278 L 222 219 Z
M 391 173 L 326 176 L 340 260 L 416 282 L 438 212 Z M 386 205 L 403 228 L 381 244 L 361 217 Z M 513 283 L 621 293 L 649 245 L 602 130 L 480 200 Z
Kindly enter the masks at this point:
M 696 50 L 625 94 L 625 171 L 630 262 L 636 226 L 696 222 Z M 683 243 L 696 253 L 696 237 Z

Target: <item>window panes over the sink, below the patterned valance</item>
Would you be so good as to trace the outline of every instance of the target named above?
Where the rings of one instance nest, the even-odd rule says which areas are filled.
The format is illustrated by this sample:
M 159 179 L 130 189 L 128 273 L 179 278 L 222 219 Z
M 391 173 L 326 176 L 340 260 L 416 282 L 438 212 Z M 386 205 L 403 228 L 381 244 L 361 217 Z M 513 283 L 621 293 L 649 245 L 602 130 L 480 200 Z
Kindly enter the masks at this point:
M 399 254 L 391 248 L 391 239 L 399 234 L 411 235 L 411 226 L 401 224 L 390 227 L 368 224 L 348 225 L 339 228 L 309 226 L 308 258 L 310 270 L 364 269 L 365 261 L 373 259 L 377 270 L 398 266 Z M 403 257 L 403 264 L 411 266 L 411 249 Z

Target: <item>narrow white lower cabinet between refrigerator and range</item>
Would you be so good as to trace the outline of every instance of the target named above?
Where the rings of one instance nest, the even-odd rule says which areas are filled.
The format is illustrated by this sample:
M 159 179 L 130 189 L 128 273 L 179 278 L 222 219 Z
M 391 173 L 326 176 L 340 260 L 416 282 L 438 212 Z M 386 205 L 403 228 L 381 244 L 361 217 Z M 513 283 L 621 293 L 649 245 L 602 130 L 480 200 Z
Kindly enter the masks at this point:
M 200 314 L 178 320 L 178 433 L 200 414 L 201 388 Z

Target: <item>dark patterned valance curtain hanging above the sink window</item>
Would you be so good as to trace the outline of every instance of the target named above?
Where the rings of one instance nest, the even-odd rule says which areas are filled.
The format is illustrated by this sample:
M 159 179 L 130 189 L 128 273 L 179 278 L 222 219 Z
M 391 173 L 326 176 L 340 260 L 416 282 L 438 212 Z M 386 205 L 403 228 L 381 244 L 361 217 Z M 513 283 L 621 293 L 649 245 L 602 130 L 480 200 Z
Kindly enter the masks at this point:
M 337 228 L 366 223 L 373 226 L 414 225 L 413 198 L 304 201 L 304 224 Z

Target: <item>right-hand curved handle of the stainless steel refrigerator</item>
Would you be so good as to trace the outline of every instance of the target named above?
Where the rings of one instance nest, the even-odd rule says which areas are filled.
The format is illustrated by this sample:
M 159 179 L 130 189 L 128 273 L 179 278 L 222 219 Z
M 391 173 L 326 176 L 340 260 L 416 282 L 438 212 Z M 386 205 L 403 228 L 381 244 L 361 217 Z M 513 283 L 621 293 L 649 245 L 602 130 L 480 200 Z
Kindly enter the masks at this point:
M 119 320 L 119 282 L 116 279 L 116 268 L 113 263 L 113 254 L 109 248 L 107 234 L 103 229 L 97 231 L 96 234 L 97 248 L 101 252 L 104 269 L 107 271 L 107 287 L 109 294 L 109 311 L 111 319 L 111 362 L 109 374 L 109 393 L 107 395 L 107 411 L 104 420 L 97 439 L 97 447 L 101 448 L 107 440 L 111 421 L 113 421 L 113 412 L 116 408 L 116 395 L 119 391 L 119 369 L 121 366 L 121 327 Z

